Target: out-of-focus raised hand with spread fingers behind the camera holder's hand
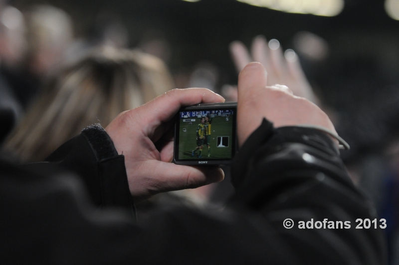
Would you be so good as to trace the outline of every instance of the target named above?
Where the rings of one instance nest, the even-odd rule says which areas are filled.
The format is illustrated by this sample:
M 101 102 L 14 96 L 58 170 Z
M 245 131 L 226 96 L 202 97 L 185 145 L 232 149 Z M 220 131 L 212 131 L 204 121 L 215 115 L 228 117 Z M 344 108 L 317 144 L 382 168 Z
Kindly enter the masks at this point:
M 268 73 L 267 85 L 284 84 L 291 89 L 294 95 L 320 105 L 295 52 L 287 50 L 284 56 L 277 40 L 269 44 L 265 37 L 257 36 L 253 39 L 251 54 L 249 54 L 242 42 L 233 41 L 230 44 L 230 52 L 237 71 L 240 72 L 251 61 L 260 62 Z

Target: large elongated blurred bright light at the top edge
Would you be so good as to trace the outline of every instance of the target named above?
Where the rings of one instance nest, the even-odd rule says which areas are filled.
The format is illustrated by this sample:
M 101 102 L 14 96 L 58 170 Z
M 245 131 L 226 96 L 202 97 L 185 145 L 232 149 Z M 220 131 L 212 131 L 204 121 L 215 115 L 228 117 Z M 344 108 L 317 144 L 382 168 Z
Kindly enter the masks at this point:
M 237 0 L 288 13 L 335 16 L 344 9 L 344 0 Z

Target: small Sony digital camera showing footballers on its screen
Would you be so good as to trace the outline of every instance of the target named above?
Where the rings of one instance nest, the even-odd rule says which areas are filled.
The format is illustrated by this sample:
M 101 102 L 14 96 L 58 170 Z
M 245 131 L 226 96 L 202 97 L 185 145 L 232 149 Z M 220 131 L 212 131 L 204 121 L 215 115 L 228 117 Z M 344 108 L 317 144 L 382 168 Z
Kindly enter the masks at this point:
M 235 152 L 235 115 L 236 108 L 179 111 L 175 162 L 228 164 Z

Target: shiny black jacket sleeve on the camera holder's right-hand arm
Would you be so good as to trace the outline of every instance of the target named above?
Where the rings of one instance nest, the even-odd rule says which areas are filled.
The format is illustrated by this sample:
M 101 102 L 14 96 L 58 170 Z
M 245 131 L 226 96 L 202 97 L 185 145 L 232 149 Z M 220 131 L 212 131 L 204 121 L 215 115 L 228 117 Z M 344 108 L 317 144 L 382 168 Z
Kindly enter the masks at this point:
M 327 134 L 301 127 L 274 129 L 264 120 L 232 165 L 236 195 L 231 206 L 262 213 L 289 262 L 386 264 L 380 228 L 385 222 L 352 183 Z M 283 226 L 286 219 L 293 221 L 293 228 Z M 366 229 L 358 219 L 375 223 Z M 341 228 L 337 221 L 348 225 Z M 321 222 L 320 229 L 316 222 Z

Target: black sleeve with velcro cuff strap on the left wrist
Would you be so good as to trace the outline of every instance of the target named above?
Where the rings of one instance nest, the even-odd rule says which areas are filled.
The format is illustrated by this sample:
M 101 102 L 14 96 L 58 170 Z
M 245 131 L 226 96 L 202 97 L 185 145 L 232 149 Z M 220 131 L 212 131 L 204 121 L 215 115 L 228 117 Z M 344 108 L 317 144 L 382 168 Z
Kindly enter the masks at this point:
M 99 124 L 83 129 L 45 162 L 25 167 L 44 171 L 51 167 L 69 170 L 81 177 L 95 206 L 120 207 L 136 218 L 124 156 L 118 155 L 111 138 Z

